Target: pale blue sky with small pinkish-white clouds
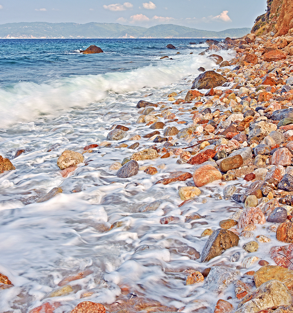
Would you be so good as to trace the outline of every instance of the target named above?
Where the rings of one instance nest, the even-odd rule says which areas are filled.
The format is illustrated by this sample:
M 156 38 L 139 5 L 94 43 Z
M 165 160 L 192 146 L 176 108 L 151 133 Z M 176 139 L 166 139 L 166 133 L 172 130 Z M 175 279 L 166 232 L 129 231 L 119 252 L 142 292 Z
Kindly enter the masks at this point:
M 142 27 L 176 24 L 221 31 L 251 28 L 265 9 L 266 0 L 0 0 L 0 24 L 97 22 Z

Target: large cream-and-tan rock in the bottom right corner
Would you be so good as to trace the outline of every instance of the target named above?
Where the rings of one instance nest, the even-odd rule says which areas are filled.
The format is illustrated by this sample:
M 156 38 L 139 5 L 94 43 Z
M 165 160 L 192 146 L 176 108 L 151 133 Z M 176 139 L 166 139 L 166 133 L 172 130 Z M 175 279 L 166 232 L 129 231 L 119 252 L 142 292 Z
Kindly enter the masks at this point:
M 271 307 L 291 305 L 292 296 L 279 280 L 269 280 L 247 294 L 238 304 L 235 313 L 257 313 Z

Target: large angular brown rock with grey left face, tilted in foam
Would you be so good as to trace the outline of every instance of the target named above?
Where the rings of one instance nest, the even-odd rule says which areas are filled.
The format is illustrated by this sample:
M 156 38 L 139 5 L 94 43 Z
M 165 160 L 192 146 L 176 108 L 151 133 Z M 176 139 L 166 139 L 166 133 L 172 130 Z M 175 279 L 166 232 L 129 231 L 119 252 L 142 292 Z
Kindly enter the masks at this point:
M 230 230 L 218 228 L 207 240 L 201 254 L 201 262 L 207 262 L 222 254 L 224 250 L 237 246 L 238 240 L 239 237 Z

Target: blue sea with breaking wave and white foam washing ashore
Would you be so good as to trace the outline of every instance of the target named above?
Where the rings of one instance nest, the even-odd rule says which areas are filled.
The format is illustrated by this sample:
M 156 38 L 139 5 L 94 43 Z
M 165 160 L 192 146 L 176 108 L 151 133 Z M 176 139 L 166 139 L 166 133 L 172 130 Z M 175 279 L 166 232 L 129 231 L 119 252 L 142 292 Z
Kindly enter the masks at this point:
M 200 188 L 200 196 L 180 206 L 178 189 L 186 182 L 154 184 L 170 172 L 192 173 L 189 164 L 176 163 L 177 156 L 161 159 L 161 169 L 157 161 L 139 161 L 139 166 L 156 162 L 158 173 L 153 176 L 139 171 L 125 179 L 109 170 L 111 163 L 153 144 L 142 137 L 136 150 L 117 147 L 135 142 L 128 141 L 131 136 L 152 131 L 136 123 L 139 100 L 168 106 L 171 92 L 185 97 L 199 67 L 218 68 L 207 55 L 199 55 L 208 47 L 200 44 L 204 41 L 0 39 L 0 155 L 16 168 L 0 174 L 0 272 L 13 284 L 0 286 L 1 313 L 27 313 L 45 302 L 58 302 L 54 312 L 67 313 L 85 300 L 103 303 L 107 309 L 132 297 L 186 313 L 212 312 L 221 297 L 234 298 L 233 286 L 218 295 L 203 284 L 185 285 L 185 280 L 192 269 L 213 265 L 236 269 L 247 256 L 242 239 L 238 247 L 207 263 L 188 253 L 192 249 L 201 253 L 207 241 L 201 233 L 219 228 L 220 220 L 242 208 L 211 198 L 235 182 L 210 183 Z M 104 53 L 80 53 L 92 44 Z M 167 49 L 167 44 L 176 49 Z M 217 54 L 224 60 L 234 56 L 229 50 Z M 169 58 L 160 59 L 163 56 Z M 127 126 L 127 137 L 105 146 L 114 124 Z M 176 122 L 168 126 L 188 127 Z M 90 144 L 99 146 L 62 177 L 57 167 L 61 153 L 82 153 Z M 177 147 L 189 144 L 174 136 Z M 55 187 L 63 192 L 37 202 Z M 239 179 L 237 187 L 242 190 L 247 183 Z M 150 203 L 154 210 L 139 212 Z M 202 218 L 185 223 L 195 213 Z M 162 225 L 160 219 L 166 216 L 177 219 Z M 261 251 L 264 258 L 268 250 Z M 231 263 L 230 256 L 237 251 L 241 257 Z M 84 271 L 81 279 L 68 279 L 68 292 L 59 290 L 63 279 Z M 82 298 L 85 292 L 89 296 Z

